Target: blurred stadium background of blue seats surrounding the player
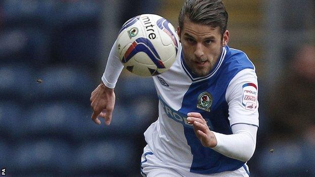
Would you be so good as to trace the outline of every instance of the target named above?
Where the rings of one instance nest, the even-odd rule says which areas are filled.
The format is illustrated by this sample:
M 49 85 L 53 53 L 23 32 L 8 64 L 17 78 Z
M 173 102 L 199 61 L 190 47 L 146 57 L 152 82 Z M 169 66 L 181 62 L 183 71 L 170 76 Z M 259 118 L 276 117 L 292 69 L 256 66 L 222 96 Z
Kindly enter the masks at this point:
M 256 65 L 260 127 L 251 176 L 315 176 L 315 1 L 224 0 L 229 45 Z M 0 168 L 8 176 L 140 176 L 153 82 L 124 72 L 110 127 L 90 120 L 121 25 L 183 1 L 0 1 Z M 137 89 L 135 89 L 137 88 Z

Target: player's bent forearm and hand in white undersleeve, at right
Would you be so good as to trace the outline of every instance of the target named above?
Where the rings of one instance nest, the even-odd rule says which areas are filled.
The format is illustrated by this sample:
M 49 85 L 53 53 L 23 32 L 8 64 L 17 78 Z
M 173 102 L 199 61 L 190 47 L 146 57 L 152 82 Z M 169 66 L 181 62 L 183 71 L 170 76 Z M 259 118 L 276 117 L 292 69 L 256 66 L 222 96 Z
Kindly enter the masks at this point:
M 225 135 L 209 130 L 202 115 L 197 112 L 189 112 L 188 124 L 192 124 L 197 138 L 204 147 L 237 160 L 248 161 L 256 147 L 257 127 L 247 124 L 232 126 L 232 135 Z

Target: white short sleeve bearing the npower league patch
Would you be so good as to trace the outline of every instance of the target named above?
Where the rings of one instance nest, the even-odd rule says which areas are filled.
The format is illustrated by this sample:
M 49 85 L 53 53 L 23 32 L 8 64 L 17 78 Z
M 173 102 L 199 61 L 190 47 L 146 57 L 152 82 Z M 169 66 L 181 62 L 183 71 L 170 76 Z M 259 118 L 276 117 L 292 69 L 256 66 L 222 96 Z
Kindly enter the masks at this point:
M 259 126 L 258 82 L 252 69 L 244 69 L 230 81 L 226 91 L 231 127 L 235 124 Z

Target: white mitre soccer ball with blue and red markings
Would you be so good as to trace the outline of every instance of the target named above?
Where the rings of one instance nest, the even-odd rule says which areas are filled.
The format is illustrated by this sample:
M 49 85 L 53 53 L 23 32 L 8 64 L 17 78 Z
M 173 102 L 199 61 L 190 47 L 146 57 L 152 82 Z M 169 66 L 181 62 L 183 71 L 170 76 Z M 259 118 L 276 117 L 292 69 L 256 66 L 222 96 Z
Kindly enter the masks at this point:
M 179 38 L 169 21 L 143 14 L 123 25 L 116 45 L 118 57 L 128 71 L 138 76 L 156 76 L 175 62 Z

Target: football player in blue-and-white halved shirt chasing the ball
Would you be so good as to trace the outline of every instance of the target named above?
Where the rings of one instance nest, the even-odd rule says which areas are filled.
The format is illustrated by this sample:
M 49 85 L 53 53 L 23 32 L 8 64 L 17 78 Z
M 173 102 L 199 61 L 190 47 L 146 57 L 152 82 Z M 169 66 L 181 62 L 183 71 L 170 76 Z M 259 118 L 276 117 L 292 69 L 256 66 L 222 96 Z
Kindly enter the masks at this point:
M 258 129 L 258 87 L 247 55 L 229 47 L 221 0 L 186 0 L 177 60 L 153 76 L 159 117 L 145 131 L 143 176 L 249 176 Z M 114 44 L 102 83 L 91 93 L 92 120 L 110 125 L 123 65 Z M 163 82 L 161 82 L 163 81 Z

